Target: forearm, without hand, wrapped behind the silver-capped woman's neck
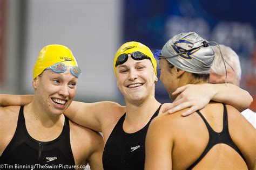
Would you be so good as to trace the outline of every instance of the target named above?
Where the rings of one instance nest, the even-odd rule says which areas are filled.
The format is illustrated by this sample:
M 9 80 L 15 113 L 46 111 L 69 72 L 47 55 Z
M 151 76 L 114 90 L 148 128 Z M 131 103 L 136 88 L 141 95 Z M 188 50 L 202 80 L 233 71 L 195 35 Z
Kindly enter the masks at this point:
M 215 95 L 213 101 L 232 105 L 239 111 L 243 111 L 250 107 L 253 99 L 248 91 L 243 90 L 233 84 L 208 84 Z

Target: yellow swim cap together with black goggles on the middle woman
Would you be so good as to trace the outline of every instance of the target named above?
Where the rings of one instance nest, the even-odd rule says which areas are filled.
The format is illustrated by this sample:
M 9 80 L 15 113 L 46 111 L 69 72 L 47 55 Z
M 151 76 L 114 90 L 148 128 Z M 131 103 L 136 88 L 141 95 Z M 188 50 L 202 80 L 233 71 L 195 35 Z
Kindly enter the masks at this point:
M 126 42 L 118 49 L 118 51 L 114 55 L 113 68 L 115 75 L 116 67 L 127 61 L 127 54 L 131 54 L 133 60 L 150 59 L 154 68 L 154 73 L 157 75 L 157 61 L 156 59 L 154 59 L 153 53 L 151 52 L 149 47 L 136 41 Z

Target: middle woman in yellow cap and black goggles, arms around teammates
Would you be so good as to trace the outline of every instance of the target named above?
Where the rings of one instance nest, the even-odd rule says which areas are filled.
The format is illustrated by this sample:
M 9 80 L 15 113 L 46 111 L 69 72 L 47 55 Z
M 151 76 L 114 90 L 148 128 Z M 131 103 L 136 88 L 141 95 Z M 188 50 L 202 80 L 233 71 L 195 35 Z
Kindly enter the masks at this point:
M 79 125 L 103 132 L 104 169 L 144 169 L 147 128 L 152 119 L 161 114 L 164 108 L 154 97 L 157 62 L 148 47 L 140 42 L 131 41 L 118 49 L 114 56 L 113 68 L 118 88 L 124 95 L 126 107 L 114 102 L 72 102 L 65 111 L 65 115 Z M 198 98 L 200 100 L 204 98 L 207 103 L 211 97 L 214 100 L 221 100 L 218 84 L 212 85 L 211 88 L 217 91 L 214 95 L 204 93 L 199 96 L 198 94 Z M 237 93 L 244 96 L 246 100 L 240 98 L 237 102 L 237 98 L 232 96 L 229 100 L 227 100 L 228 97 L 224 100 L 234 105 L 243 101 L 242 106 L 239 104 L 237 106 L 245 109 L 251 104 L 251 96 L 246 91 L 238 89 L 238 87 L 230 88 L 225 93 L 232 94 L 233 91 L 238 91 Z M 10 100 L 11 97 L 5 98 Z M 19 97 L 25 98 L 25 102 L 29 102 L 32 98 L 31 96 Z M 14 100 L 7 103 L 21 104 Z M 186 107 L 191 107 L 191 104 Z

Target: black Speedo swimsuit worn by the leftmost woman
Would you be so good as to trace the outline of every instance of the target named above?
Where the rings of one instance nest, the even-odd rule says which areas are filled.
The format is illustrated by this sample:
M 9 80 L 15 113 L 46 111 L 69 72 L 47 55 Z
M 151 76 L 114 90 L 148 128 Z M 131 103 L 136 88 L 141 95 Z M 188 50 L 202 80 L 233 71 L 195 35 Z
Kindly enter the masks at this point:
M 33 139 L 26 130 L 23 106 L 19 110 L 17 128 L 14 137 L 5 148 L 0 157 L 0 164 L 8 165 L 58 165 L 74 168 L 70 145 L 69 119 L 65 117 L 65 123 L 60 135 L 52 141 L 38 141 Z M 71 166 L 72 165 L 72 166 Z M 42 167 L 35 167 L 36 169 Z M 48 167 L 49 169 L 67 169 L 60 167 Z M 68 169 L 70 169 L 68 168 Z M 31 169 L 31 168 L 22 168 Z

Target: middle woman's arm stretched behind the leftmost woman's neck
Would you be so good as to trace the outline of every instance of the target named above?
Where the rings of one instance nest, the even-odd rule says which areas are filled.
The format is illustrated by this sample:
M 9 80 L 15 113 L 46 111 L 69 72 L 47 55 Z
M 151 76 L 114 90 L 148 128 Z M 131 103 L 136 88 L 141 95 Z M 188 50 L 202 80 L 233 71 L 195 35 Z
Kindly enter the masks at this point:
M 31 103 L 32 100 L 33 95 L 0 95 L 0 107 L 25 105 Z M 72 101 L 68 109 L 64 111 L 64 115 L 81 126 L 102 132 L 104 122 L 113 122 L 116 117 L 119 117 L 118 113 L 123 114 L 124 112 L 125 107 L 116 102 L 84 103 Z

